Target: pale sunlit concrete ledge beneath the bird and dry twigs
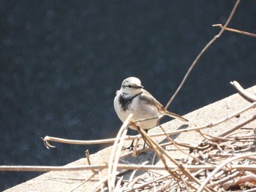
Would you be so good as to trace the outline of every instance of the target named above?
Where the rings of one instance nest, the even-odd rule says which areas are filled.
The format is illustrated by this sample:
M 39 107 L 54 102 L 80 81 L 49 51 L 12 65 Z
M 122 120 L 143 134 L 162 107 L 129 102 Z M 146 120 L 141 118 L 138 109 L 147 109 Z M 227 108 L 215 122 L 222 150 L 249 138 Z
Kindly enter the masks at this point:
M 247 91 L 253 94 L 254 88 L 256 88 L 256 86 L 247 89 Z M 203 126 L 206 123 L 211 123 L 219 120 L 220 118 L 225 118 L 225 116 L 241 110 L 248 105 L 249 101 L 246 101 L 246 99 L 242 98 L 238 93 L 236 93 L 225 99 L 214 102 L 213 104 L 209 104 L 206 107 L 202 107 L 199 110 L 190 112 L 189 114 L 185 115 L 185 117 L 189 119 L 189 127 L 195 127 L 195 125 Z M 217 136 L 227 128 L 241 123 L 255 114 L 256 109 L 249 110 L 241 114 L 238 118 L 232 118 L 231 120 L 228 120 L 219 126 L 215 126 L 214 128 L 204 129 L 203 132 Z M 165 131 L 172 131 L 178 128 L 187 128 L 182 122 L 179 122 L 178 120 L 171 120 L 170 122 L 165 123 L 163 127 L 165 128 Z M 246 125 L 246 127 L 255 128 L 256 122 L 254 121 L 249 123 Z M 157 133 L 159 131 L 159 128 L 153 128 L 148 131 L 148 133 Z M 172 138 L 177 142 L 185 142 L 189 143 L 190 145 L 197 145 L 202 140 L 202 137 L 200 137 L 200 135 L 196 132 L 184 132 L 181 134 L 173 135 Z M 154 140 L 157 142 L 165 142 L 165 137 L 154 137 Z M 124 145 L 129 145 L 129 142 L 130 141 L 125 142 Z M 168 147 L 167 149 L 170 151 L 170 155 L 172 155 L 174 158 L 182 158 L 182 155 L 184 155 L 182 153 L 177 153 L 175 148 Z M 107 164 L 110 153 L 111 147 L 107 147 L 104 150 L 100 150 L 98 153 L 90 155 L 91 164 Z M 122 155 L 125 155 L 126 153 L 128 152 L 125 150 L 122 151 Z M 145 161 L 149 161 L 148 164 L 151 164 L 153 155 L 154 153 L 149 151 L 147 153 L 138 155 L 136 158 L 129 155 L 122 159 L 129 164 L 141 164 Z M 86 164 L 86 158 L 81 158 L 78 161 L 68 164 L 67 166 L 78 166 Z M 157 165 L 160 164 L 162 164 L 161 161 L 157 160 Z M 165 171 L 163 170 L 162 172 Z M 130 172 L 124 174 L 124 179 L 129 179 L 129 174 Z M 101 172 L 101 177 L 105 177 L 106 175 L 106 170 Z M 137 172 L 136 177 L 143 178 L 148 176 L 145 174 L 145 172 Z M 89 191 L 89 189 L 93 188 L 93 186 L 97 184 L 98 180 L 99 177 L 97 175 L 93 176 L 91 171 L 48 172 L 32 180 L 29 180 L 26 183 L 16 185 L 15 187 L 6 191 Z

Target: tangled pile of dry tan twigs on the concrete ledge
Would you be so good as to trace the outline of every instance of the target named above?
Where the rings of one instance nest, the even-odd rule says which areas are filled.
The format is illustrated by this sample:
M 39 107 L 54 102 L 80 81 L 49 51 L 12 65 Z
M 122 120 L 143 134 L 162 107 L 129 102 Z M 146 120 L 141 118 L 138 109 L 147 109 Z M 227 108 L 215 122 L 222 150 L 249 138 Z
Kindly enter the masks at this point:
M 232 84 L 238 88 L 243 96 L 246 96 L 246 99 L 255 99 L 253 101 L 256 101 L 255 96 L 246 93 L 238 82 L 232 82 Z M 213 137 L 201 131 L 203 128 L 214 128 L 219 123 L 236 118 L 241 113 L 255 107 L 256 104 L 253 102 L 248 107 L 233 113 L 227 118 L 218 120 L 216 123 L 200 128 L 187 128 L 186 131 L 197 131 L 204 138 L 196 147 L 173 142 L 169 137 L 173 133 L 167 133 L 166 137 L 169 141 L 167 144 L 173 145 L 181 153 L 186 153 L 186 158 L 172 158 L 167 150 L 154 142 L 154 139 L 148 136 L 145 131 L 138 128 L 148 146 L 151 150 L 154 150 L 154 153 L 162 161 L 164 166 L 161 169 L 164 168 L 167 174 L 159 174 L 153 172 L 152 167 L 146 169 L 146 166 L 141 166 L 143 170 L 146 169 L 150 173 L 150 180 L 143 181 L 138 178 L 133 180 L 134 174 L 131 174 L 129 180 L 123 180 L 123 177 L 119 178 L 116 185 L 116 169 L 120 166 L 117 164 L 120 157 L 113 155 L 113 162 L 116 162 L 116 164 L 111 164 L 111 167 L 116 167 L 116 169 L 108 169 L 109 171 L 113 170 L 108 175 L 108 189 L 110 191 L 146 191 L 151 188 L 154 188 L 155 191 L 227 191 L 256 188 L 256 130 L 245 127 L 256 119 L 256 115 L 236 126 L 225 128 L 227 131 L 219 134 L 218 137 Z M 121 132 L 123 131 L 121 130 Z M 117 147 L 118 142 L 116 142 Z M 187 150 L 189 153 L 185 152 L 185 148 L 189 149 Z M 116 150 L 113 150 L 112 154 L 115 153 Z

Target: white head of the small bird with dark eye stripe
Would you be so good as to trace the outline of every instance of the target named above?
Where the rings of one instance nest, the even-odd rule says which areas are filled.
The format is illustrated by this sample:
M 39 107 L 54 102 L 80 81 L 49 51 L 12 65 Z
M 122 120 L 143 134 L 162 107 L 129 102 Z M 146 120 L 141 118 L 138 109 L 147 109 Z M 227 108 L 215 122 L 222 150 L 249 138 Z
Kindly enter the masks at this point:
M 121 84 L 121 93 L 127 96 L 135 96 L 142 92 L 143 86 L 136 77 L 128 77 Z

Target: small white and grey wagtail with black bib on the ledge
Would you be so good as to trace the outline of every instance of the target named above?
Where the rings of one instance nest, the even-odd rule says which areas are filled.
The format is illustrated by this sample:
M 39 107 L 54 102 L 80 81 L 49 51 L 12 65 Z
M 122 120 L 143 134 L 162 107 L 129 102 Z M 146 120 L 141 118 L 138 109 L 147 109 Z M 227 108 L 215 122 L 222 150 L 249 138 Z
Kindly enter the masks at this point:
M 128 77 L 121 83 L 120 90 L 116 91 L 113 105 L 118 118 L 123 123 L 129 114 L 133 114 L 132 120 L 137 122 L 129 123 L 129 128 L 134 130 L 138 130 L 137 126 L 140 126 L 140 128 L 147 132 L 149 129 L 157 126 L 159 118 L 165 115 L 188 122 L 186 118 L 167 111 L 151 93 L 144 89 L 140 79 L 137 77 Z M 138 122 L 138 120 L 142 121 Z M 133 142 L 129 147 L 130 149 L 134 147 Z

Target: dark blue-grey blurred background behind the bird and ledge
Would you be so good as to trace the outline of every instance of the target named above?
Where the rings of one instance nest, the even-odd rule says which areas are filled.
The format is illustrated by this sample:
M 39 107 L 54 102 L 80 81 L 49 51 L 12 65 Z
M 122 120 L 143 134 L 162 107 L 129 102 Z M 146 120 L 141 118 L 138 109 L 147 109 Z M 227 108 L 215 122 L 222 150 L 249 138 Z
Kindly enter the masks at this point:
M 106 145 L 40 137 L 105 139 L 121 126 L 113 98 L 139 77 L 162 104 L 219 32 L 236 1 L 0 1 L 0 164 L 64 165 Z M 255 1 L 231 28 L 256 33 Z M 169 110 L 184 115 L 255 85 L 256 39 L 225 32 L 200 59 Z M 38 175 L 0 172 L 0 190 Z

